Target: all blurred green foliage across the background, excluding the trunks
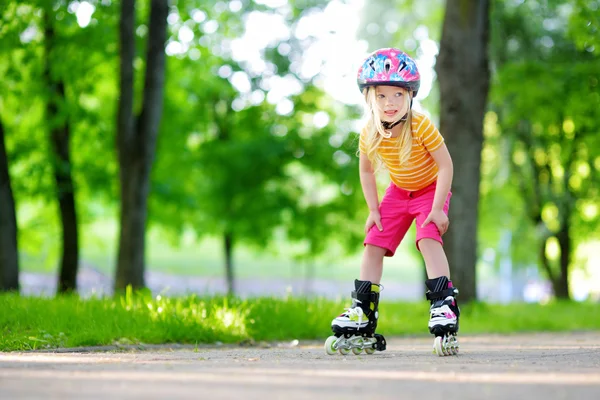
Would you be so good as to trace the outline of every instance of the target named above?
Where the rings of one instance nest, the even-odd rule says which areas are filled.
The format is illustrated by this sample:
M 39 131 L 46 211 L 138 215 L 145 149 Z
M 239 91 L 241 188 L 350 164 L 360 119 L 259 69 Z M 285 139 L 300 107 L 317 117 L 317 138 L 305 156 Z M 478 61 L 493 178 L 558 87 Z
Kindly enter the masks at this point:
M 5 3 L 0 7 L 0 118 L 7 131 L 20 250 L 25 265 L 35 259 L 39 268 L 38 260 L 43 260 L 49 269 L 60 247 L 48 141 L 54 122 L 45 117 L 48 90 L 42 79 L 41 24 L 50 3 Z M 90 239 L 94 222 L 114 220 L 118 208 L 114 126 L 119 2 L 90 3 L 95 10 L 86 27 L 78 25 L 68 2 L 56 3 L 50 61 L 55 77 L 66 82 L 60 118 L 73 128 L 82 240 L 101 253 Z M 138 92 L 148 4 L 138 2 L 137 10 Z M 168 231 L 174 242 L 190 229 L 199 237 L 230 230 L 237 242 L 261 251 L 277 249 L 281 241 L 287 244 L 282 252 L 287 251 L 292 247 L 287 241 L 294 242 L 286 256 L 307 262 L 330 253 L 335 242 L 352 253 L 360 249 L 365 208 L 356 171 L 353 121 L 358 110 L 336 104 L 318 79 L 300 74 L 299 60 L 314 38 L 293 35 L 302 17 L 323 7 L 327 2 L 320 0 L 290 1 L 284 7 L 243 0 L 240 10 L 217 1 L 172 5 L 169 44 L 179 43 L 182 51 L 169 50 L 167 57 L 165 112 L 152 171 L 152 228 Z M 438 0 L 365 3 L 360 39 L 368 40 L 369 50 L 397 46 L 419 56 L 439 38 L 443 10 Z M 264 61 L 260 72 L 232 53 L 235 40 L 245 33 L 245 21 L 256 12 L 281 18 L 290 33 L 265 42 L 259 51 Z M 575 244 L 599 232 L 598 1 L 494 1 L 491 22 L 495 75 L 483 152 L 480 247 L 497 249 L 511 232 L 513 260 L 530 264 L 537 258 L 531 249 L 540 228 L 528 220 L 536 165 L 546 171 L 538 175 L 547 181 L 539 203 L 545 210 L 542 228 L 556 232 L 568 200 L 574 204 L 569 218 L 577 227 Z M 208 29 L 211 24 L 214 31 Z M 180 40 L 188 30 L 193 38 Z M 234 85 L 239 77 L 248 80 L 249 88 Z M 269 97 L 284 78 L 298 88 L 287 96 L 293 103 L 287 112 Z M 435 87 L 423 102 L 435 116 Z M 323 113 L 327 124 L 316 124 Z M 523 129 L 535 143 L 518 137 Z M 511 168 L 515 159 L 528 154 L 525 150 L 536 161 Z M 571 150 L 573 160 L 567 165 Z M 568 190 L 558 185 L 558 178 L 566 176 Z

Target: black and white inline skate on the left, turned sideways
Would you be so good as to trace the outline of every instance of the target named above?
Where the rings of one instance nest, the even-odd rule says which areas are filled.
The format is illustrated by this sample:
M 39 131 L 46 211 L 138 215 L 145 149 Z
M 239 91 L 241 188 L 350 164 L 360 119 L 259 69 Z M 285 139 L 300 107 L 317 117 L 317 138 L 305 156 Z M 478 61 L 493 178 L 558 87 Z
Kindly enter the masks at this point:
M 325 342 L 328 354 L 339 350 L 348 354 L 350 350 L 359 354 L 363 349 L 368 354 L 385 350 L 385 338 L 375 334 L 379 318 L 379 292 L 381 286 L 370 281 L 354 281 L 352 306 L 331 322 L 330 336 Z

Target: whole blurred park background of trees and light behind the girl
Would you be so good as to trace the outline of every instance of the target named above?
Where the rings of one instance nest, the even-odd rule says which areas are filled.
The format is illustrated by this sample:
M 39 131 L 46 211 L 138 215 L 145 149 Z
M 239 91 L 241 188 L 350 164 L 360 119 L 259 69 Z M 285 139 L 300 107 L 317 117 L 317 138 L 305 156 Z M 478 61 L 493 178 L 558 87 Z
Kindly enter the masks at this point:
M 348 296 L 367 217 L 356 71 L 397 47 L 457 167 L 466 298 L 599 301 L 599 15 L 594 0 L 3 0 L 0 287 Z M 386 299 L 424 299 L 414 237 L 385 260 Z

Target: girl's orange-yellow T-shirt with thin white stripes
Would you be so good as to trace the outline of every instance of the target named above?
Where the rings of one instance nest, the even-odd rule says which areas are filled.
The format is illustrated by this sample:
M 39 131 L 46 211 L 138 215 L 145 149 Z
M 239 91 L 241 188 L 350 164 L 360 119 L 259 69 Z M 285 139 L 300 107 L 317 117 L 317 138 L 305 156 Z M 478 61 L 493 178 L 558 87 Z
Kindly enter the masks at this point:
M 444 144 L 444 138 L 426 116 L 413 113 L 412 151 L 408 161 L 400 165 L 398 138 L 384 138 L 377 150 L 383 164 L 390 172 L 392 182 L 401 189 L 414 192 L 432 184 L 437 179 L 438 167 L 431 153 Z M 365 153 L 366 131 L 360 135 L 359 149 Z

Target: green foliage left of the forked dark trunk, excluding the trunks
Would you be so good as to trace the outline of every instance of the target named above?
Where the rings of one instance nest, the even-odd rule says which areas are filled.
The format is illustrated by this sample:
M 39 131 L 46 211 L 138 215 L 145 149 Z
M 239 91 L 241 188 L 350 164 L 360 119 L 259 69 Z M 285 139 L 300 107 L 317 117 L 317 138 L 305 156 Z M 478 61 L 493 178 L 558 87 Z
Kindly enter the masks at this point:
M 49 101 L 43 66 L 51 64 L 52 79 L 65 82 L 66 98 L 58 119 L 72 132 L 71 156 L 80 220 L 97 217 L 97 205 L 116 198 L 114 101 L 116 79 L 117 5 L 95 4 L 94 20 L 85 28 L 66 5 L 9 2 L 2 10 L 0 51 L 0 118 L 7 129 L 7 148 L 18 207 L 19 245 L 24 265 L 31 257 L 54 264 L 60 243 L 49 131 Z M 55 37 L 45 59 L 43 18 L 51 14 Z M 101 21 L 101 23 L 99 23 Z M 6 41 L 4 39 L 7 39 Z M 4 55 L 7 55 L 6 57 Z

